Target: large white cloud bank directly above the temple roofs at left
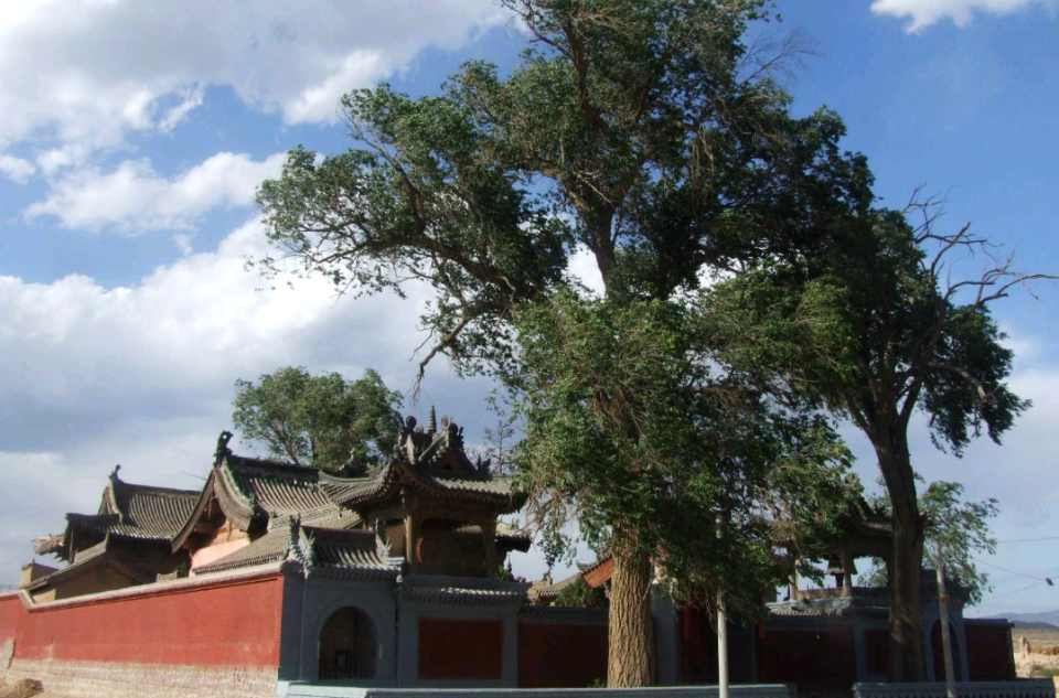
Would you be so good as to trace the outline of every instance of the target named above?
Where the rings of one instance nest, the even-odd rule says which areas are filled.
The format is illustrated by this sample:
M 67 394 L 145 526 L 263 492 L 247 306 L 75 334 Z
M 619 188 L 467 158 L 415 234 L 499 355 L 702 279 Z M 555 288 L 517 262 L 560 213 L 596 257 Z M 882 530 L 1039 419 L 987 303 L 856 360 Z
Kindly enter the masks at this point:
M 68 511 L 94 511 L 115 463 L 130 482 L 195 487 L 216 434 L 231 428 L 234 382 L 284 365 L 360 376 L 377 369 L 411 387 L 425 287 L 407 299 L 335 299 L 322 279 L 258 291 L 244 268 L 266 248 L 257 219 L 214 251 L 190 254 L 137 283 L 105 287 L 71 275 L 50 283 L 0 276 L 0 581 L 30 559 L 29 538 L 61 529 Z M 431 404 L 474 442 L 495 418 L 491 385 L 431 365 Z M 245 445 L 239 445 L 245 451 Z

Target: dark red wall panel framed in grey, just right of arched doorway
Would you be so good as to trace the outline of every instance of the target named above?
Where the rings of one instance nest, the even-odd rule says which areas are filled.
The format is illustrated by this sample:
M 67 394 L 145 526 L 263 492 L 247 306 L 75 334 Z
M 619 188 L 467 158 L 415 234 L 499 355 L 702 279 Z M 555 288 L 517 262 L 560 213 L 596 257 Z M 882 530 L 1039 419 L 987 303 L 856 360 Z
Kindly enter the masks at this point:
M 503 666 L 502 621 L 419 619 L 419 678 L 499 679 Z

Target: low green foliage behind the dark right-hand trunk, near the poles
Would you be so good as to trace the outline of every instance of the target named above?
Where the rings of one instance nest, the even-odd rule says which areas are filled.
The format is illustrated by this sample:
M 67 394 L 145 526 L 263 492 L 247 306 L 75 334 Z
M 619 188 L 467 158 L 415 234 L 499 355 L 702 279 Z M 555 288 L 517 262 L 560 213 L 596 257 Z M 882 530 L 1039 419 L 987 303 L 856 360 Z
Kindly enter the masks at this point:
M 975 554 L 996 552 L 996 538 L 990 531 L 990 519 L 998 514 L 996 500 L 962 502 L 963 485 L 955 482 L 932 482 L 919 500 L 919 508 L 927 519 L 926 557 L 934 558 L 934 545 L 941 544 L 941 559 L 946 578 L 956 582 L 966 594 L 967 605 L 982 601 L 988 592 L 990 577 L 974 563 Z M 871 497 L 871 506 L 889 509 L 889 500 Z M 862 583 L 886 586 L 886 568 L 881 560 L 862 579 Z

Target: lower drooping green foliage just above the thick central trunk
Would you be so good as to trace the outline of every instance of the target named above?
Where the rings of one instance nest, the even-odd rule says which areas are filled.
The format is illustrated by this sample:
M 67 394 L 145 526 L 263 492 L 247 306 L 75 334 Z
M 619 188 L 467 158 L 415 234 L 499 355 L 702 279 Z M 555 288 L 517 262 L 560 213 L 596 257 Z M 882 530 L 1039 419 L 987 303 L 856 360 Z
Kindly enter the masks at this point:
M 752 616 L 781 576 L 763 516 L 828 526 L 848 454 L 819 417 L 704 362 L 693 320 L 681 303 L 571 292 L 524 312 L 515 463 L 553 554 L 576 519 L 597 550 L 652 556 L 676 597 L 724 588 Z

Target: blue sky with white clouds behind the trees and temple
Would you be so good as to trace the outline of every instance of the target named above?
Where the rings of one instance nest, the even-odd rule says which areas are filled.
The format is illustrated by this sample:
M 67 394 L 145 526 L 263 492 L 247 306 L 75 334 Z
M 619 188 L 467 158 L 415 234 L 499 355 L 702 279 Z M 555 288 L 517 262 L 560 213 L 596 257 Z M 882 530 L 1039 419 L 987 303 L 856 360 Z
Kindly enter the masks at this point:
M 793 110 L 839 111 L 886 203 L 926 184 L 949 200 L 944 226 L 972 222 L 1015 246 L 1020 268 L 1059 271 L 1055 2 L 787 0 L 779 10 L 770 31 L 801 32 L 815 54 L 789 80 Z M 512 66 L 522 40 L 490 0 L 4 8 L 0 581 L 30 559 L 31 536 L 96 506 L 115 463 L 132 482 L 196 486 L 229 427 L 236 378 L 287 364 L 371 366 L 410 387 L 427 294 L 336 302 L 317 282 L 257 291 L 243 270 L 264 250 L 254 191 L 293 146 L 346 147 L 344 92 L 388 79 L 431 93 L 469 58 Z M 928 480 L 999 500 L 1002 540 L 1059 535 L 1059 291 L 1038 296 L 996 307 L 1017 351 L 1012 383 L 1035 400 L 1004 447 L 976 443 L 954 459 L 930 447 L 922 423 L 913 429 Z M 492 420 L 489 389 L 439 364 L 420 405 L 406 407 L 436 404 L 478 439 Z M 848 436 L 873 481 L 869 449 Z M 1059 576 L 1057 560 L 1059 540 L 1002 544 L 985 559 L 1033 578 Z M 539 556 L 515 563 L 543 571 Z M 1059 589 L 1013 593 L 1035 581 L 991 571 L 996 599 L 982 613 L 1059 608 Z

